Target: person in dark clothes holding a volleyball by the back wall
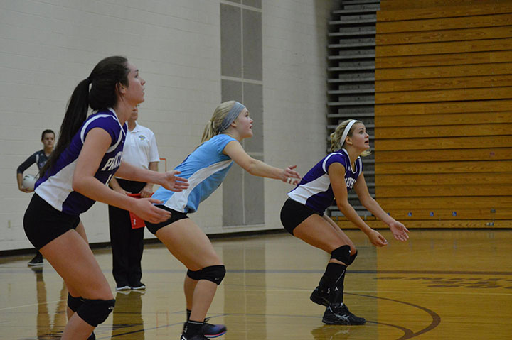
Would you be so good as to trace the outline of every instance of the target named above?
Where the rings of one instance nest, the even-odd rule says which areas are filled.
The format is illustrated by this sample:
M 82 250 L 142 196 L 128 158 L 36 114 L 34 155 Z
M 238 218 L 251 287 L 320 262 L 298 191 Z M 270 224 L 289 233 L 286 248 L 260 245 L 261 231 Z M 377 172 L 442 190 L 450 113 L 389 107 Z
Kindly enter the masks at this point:
M 30 185 L 23 186 L 23 172 L 30 168 L 33 163 L 36 163 L 38 170 L 41 171 L 43 165 L 45 165 L 46 160 L 50 157 L 50 153 L 53 151 L 53 144 L 55 143 L 55 132 L 50 129 L 46 129 L 41 133 L 41 143 L 43 143 L 43 149 L 36 151 L 30 157 L 28 157 L 23 163 L 18 166 L 16 169 L 16 180 L 18 181 L 18 189 L 22 192 L 33 192 L 33 184 L 36 182 L 36 177 L 30 178 Z M 32 258 L 31 261 L 28 262 L 28 265 L 43 265 L 43 256 L 39 251 L 36 250 L 36 256 Z

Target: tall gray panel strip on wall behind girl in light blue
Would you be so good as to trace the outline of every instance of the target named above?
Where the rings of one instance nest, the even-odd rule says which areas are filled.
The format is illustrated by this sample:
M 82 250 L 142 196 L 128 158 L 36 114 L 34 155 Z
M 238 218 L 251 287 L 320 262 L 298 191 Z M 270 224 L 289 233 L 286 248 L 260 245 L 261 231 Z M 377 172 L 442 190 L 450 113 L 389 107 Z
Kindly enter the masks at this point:
M 261 7 L 261 1 L 244 5 Z M 262 15 L 236 4 L 220 4 L 220 13 L 221 75 L 229 78 L 221 79 L 222 101 L 237 100 L 247 106 L 254 121 L 253 136 L 242 145 L 252 157 L 263 160 Z M 233 165 L 223 182 L 223 226 L 264 224 L 264 188 L 261 177 Z

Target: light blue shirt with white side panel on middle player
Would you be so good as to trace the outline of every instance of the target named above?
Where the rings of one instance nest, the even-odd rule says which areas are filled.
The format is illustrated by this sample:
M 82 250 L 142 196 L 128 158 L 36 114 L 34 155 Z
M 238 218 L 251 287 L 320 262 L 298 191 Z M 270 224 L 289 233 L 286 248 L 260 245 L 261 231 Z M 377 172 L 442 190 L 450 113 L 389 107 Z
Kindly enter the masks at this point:
M 188 180 L 188 188 L 182 192 L 172 192 L 159 187 L 152 197 L 177 212 L 196 212 L 199 203 L 219 187 L 233 165 L 233 160 L 223 154 L 230 141 L 236 139 L 220 134 L 201 144 L 174 169 L 181 171 L 179 177 Z

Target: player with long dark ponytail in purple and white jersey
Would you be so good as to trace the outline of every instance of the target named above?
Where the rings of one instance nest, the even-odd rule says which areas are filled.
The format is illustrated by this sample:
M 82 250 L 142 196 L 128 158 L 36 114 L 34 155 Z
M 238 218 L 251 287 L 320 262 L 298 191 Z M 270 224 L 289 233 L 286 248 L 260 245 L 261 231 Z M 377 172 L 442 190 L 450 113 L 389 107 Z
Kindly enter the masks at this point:
M 153 182 L 169 190 L 187 187 L 175 177 L 142 170 L 121 161 L 125 122 L 144 102 L 144 80 L 124 57 L 107 57 L 75 88 L 59 141 L 41 170 L 23 226 L 29 241 L 41 251 L 68 287 L 68 324 L 64 340 L 95 339 L 92 331 L 114 308 L 110 285 L 87 243 L 80 213 L 95 201 L 130 210 L 155 223 L 169 212 L 154 207 L 157 199 L 134 199 L 114 192 L 107 183 L 114 175 Z M 97 111 L 87 119 L 87 110 Z

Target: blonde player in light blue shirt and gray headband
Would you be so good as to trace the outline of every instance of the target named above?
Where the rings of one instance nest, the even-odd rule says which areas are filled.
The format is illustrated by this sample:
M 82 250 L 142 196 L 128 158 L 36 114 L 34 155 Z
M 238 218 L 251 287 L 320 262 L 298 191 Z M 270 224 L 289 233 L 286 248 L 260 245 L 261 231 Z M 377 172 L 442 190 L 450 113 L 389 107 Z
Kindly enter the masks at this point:
M 177 194 L 160 187 L 153 195 L 163 202 L 156 207 L 171 212 L 171 218 L 159 224 L 146 223 L 146 226 L 188 268 L 183 284 L 187 322 L 181 340 L 203 340 L 226 331 L 223 324 L 205 322 L 217 286 L 224 278 L 225 267 L 206 234 L 187 215 L 196 212 L 199 204 L 219 187 L 233 162 L 251 175 L 283 182 L 300 179 L 293 170 L 296 165 L 274 168 L 247 155 L 240 142 L 250 137 L 252 119 L 247 108 L 234 101 L 220 104 L 204 129 L 201 145 L 175 169 L 188 180 L 188 189 Z

